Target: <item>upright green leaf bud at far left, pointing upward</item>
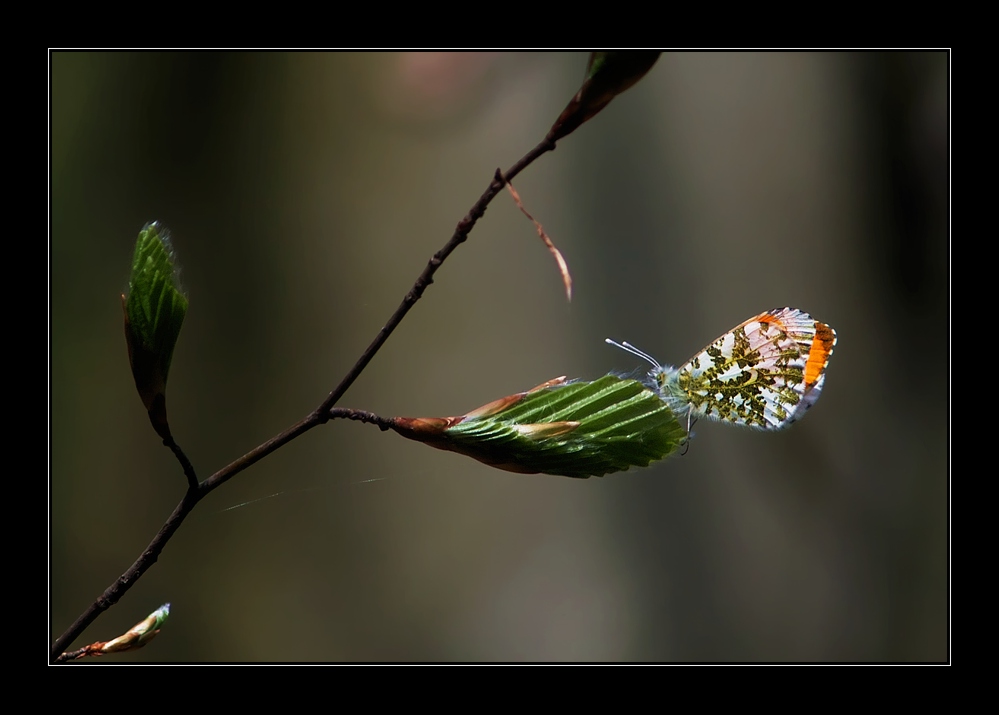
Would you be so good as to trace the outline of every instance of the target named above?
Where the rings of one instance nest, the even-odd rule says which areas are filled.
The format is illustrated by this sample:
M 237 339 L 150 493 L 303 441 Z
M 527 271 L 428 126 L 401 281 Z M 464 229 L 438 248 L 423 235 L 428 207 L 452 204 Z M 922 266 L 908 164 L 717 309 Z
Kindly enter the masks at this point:
M 166 420 L 167 375 L 188 303 L 180 288 L 179 273 L 169 233 L 156 221 L 147 224 L 135 242 L 128 295 L 122 296 L 122 308 L 135 387 L 153 427 L 164 439 L 170 434 Z

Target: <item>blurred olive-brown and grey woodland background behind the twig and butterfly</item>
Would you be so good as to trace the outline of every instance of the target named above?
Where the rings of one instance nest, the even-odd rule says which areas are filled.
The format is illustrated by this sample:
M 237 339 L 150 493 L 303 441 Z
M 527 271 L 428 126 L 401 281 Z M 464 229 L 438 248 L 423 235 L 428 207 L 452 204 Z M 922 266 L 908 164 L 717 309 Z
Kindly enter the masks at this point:
M 168 407 L 204 478 L 333 388 L 585 63 L 52 56 L 53 638 L 185 486 L 127 365 L 139 229 L 183 264 Z M 943 53 L 664 54 L 515 182 L 572 303 L 501 195 L 340 403 L 460 414 L 644 368 L 607 336 L 679 363 L 790 305 L 839 334 L 793 429 L 701 421 L 580 481 L 332 423 L 202 502 L 77 644 L 170 601 L 104 662 L 944 659 L 947 80 Z

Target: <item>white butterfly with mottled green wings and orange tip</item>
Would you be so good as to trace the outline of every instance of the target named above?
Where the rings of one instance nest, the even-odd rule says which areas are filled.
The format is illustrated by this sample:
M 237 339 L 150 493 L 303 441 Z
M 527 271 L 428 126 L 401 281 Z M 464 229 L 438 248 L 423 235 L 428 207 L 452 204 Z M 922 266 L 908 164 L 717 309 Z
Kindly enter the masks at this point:
M 760 313 L 679 368 L 628 343 L 607 343 L 647 360 L 649 377 L 677 418 L 708 417 L 762 430 L 784 429 L 822 393 L 836 331 L 797 308 Z

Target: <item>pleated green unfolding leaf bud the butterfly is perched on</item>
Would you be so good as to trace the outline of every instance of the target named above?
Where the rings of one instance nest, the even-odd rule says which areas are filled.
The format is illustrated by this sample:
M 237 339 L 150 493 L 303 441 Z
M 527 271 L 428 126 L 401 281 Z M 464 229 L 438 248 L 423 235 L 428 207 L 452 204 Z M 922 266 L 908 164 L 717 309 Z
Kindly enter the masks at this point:
M 400 417 L 392 428 L 499 469 L 579 478 L 646 467 L 686 438 L 659 395 L 614 375 L 558 378 L 461 417 Z

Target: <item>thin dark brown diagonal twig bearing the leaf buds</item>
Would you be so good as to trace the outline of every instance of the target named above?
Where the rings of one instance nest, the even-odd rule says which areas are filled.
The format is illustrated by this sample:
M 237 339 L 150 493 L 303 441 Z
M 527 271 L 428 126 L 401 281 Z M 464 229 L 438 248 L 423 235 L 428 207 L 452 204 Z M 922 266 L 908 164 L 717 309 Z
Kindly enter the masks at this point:
M 402 322 L 402 319 L 406 317 L 406 313 L 409 312 L 409 309 L 412 308 L 416 301 L 423 296 L 423 292 L 427 289 L 427 287 L 433 283 L 433 276 L 437 272 L 437 269 L 440 268 L 441 264 L 444 263 L 447 257 L 454 252 L 455 248 L 465 242 L 468 238 L 468 234 L 471 232 L 476 222 L 482 218 L 483 214 L 485 214 L 486 207 L 496 197 L 496 195 L 502 191 L 506 182 L 511 181 L 515 176 L 517 176 L 517 174 L 530 166 L 531 163 L 534 162 L 539 156 L 554 149 L 555 142 L 546 138 L 543 142 L 525 154 L 520 161 L 510 167 L 510 170 L 507 171 L 505 175 L 502 174 L 499 169 L 496 170 L 496 175 L 493 177 L 489 187 L 485 190 L 482 196 L 479 197 L 479 200 L 475 202 L 465 218 L 458 222 L 458 226 L 455 228 L 450 240 L 444 244 L 444 247 L 437 251 L 437 253 L 435 253 L 427 263 L 426 268 L 423 269 L 423 272 L 416 279 L 413 287 L 410 288 L 406 297 L 403 298 L 402 303 L 398 308 L 396 308 L 395 313 L 392 314 L 392 317 L 389 318 L 388 322 L 385 323 L 385 327 L 378 331 L 378 335 L 375 336 L 375 339 L 368 346 L 367 350 L 361 354 L 361 357 L 358 358 L 357 362 L 354 363 L 354 366 L 340 381 L 340 384 L 337 385 L 336 388 L 334 388 L 333 391 L 326 397 L 326 399 L 323 400 L 322 404 L 313 410 L 313 412 L 305 419 L 292 425 L 281 434 L 272 437 L 267 442 L 264 442 L 253 450 L 247 452 L 242 457 L 223 467 L 200 484 L 197 483 L 196 477 L 193 477 L 194 468 L 191 467 L 190 462 L 187 460 L 187 457 L 184 456 L 183 452 L 180 451 L 180 448 L 177 447 L 176 444 L 167 444 L 167 442 L 164 441 L 164 444 L 167 444 L 167 446 L 174 451 L 174 454 L 177 455 L 177 458 L 180 460 L 181 465 L 184 468 L 184 473 L 188 477 L 189 483 L 192 482 L 193 478 L 192 485 L 187 490 L 184 498 L 173 510 L 173 513 L 166 520 L 166 523 L 163 524 L 159 533 L 153 537 L 151 542 L 149 542 L 149 546 L 147 546 L 146 550 L 142 552 L 142 555 L 135 560 L 135 563 L 133 563 L 125 573 L 119 576 L 118 579 L 111 584 L 107 590 L 104 591 L 104 593 L 101 594 L 101 596 L 94 601 L 89 608 L 87 608 L 86 611 L 80 614 L 80 617 L 76 619 L 73 625 L 71 625 L 66 632 L 59 636 L 52 644 L 50 657 L 53 662 L 56 661 L 59 655 L 63 653 L 66 648 L 74 640 L 76 640 L 101 613 L 117 603 L 118 600 L 132 587 L 132 585 L 139 580 L 142 574 L 144 574 L 150 566 L 156 563 L 160 553 L 163 551 L 163 548 L 173 536 L 174 532 L 180 528 L 180 525 L 184 522 L 187 515 L 191 513 L 191 510 L 194 509 L 197 503 L 201 501 L 209 492 L 221 486 L 247 467 L 256 464 L 268 454 L 277 450 L 279 447 L 284 446 L 296 437 L 308 432 L 313 427 L 324 424 L 334 417 L 361 419 L 360 415 L 363 414 L 369 415 L 372 418 L 377 418 L 377 415 L 362 413 L 357 410 L 347 411 L 356 415 L 354 417 L 351 417 L 343 411 L 338 410 L 334 413 L 331 412 L 331 410 L 337 401 L 343 397 L 343 394 L 354 383 L 364 368 L 367 367 L 368 363 L 371 362 L 375 353 L 377 353 L 381 346 L 385 344 L 385 341 L 388 340 L 392 332 L 396 329 L 399 323 Z M 382 426 L 379 422 L 375 422 L 375 424 Z M 385 429 L 385 427 L 382 427 L 382 429 Z M 190 471 L 188 471 L 189 467 Z

